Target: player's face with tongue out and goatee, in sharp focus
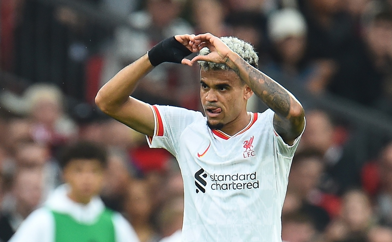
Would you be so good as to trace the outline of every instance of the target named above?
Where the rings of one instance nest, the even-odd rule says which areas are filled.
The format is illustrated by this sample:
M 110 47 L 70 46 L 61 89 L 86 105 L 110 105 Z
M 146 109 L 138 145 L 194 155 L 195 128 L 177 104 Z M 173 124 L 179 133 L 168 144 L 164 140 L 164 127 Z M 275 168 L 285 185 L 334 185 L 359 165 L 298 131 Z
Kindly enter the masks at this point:
M 253 93 L 232 70 L 201 69 L 200 77 L 200 99 L 207 124 L 225 132 L 225 126 L 244 117 L 247 100 Z

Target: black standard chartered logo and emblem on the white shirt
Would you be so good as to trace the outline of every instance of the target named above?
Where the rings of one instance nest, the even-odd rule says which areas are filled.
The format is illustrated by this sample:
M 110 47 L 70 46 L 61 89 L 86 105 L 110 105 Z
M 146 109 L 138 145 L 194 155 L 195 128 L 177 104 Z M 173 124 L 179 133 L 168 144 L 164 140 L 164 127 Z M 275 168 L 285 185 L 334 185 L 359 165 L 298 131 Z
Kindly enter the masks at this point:
M 196 171 L 195 173 L 195 185 L 196 193 L 201 191 L 205 193 L 205 187 L 207 181 L 203 178 L 207 178 L 207 173 L 204 173 L 204 169 Z M 211 190 L 244 190 L 244 189 L 258 189 L 260 184 L 257 178 L 256 171 L 253 173 L 235 173 L 235 174 L 212 174 L 210 175 Z

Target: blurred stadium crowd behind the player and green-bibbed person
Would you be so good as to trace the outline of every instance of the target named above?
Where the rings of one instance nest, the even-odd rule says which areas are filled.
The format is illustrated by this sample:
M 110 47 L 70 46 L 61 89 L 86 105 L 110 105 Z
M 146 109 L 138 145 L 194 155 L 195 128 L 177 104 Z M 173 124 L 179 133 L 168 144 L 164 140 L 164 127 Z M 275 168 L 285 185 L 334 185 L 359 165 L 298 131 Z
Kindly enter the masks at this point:
M 102 198 L 141 242 L 181 228 L 176 161 L 94 97 L 163 38 L 205 32 L 253 44 L 260 70 L 305 107 L 283 240 L 392 241 L 392 1 L 1 0 L 0 18 L 0 241 L 61 183 L 56 159 L 75 140 L 109 150 Z M 134 95 L 200 110 L 198 78 L 165 63 Z

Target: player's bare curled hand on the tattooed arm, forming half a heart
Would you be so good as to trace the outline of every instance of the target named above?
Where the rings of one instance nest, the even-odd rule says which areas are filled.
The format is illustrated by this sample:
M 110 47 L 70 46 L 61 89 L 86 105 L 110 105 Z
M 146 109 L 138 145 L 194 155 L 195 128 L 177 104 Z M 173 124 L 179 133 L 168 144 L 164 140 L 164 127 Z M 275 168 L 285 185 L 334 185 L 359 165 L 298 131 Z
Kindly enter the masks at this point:
M 203 49 L 204 47 L 207 47 L 208 49 L 210 49 L 210 53 L 205 56 L 201 56 L 201 55 L 195 56 L 192 60 L 188 60 L 184 58 L 181 61 L 181 64 L 192 66 L 194 62 L 199 60 L 226 64 L 229 67 L 232 64 L 229 59 L 229 55 L 230 53 L 233 53 L 233 51 L 225 43 L 223 43 L 220 38 L 210 33 L 205 33 L 196 36 L 192 35 L 190 37 L 189 46 L 190 46 L 189 50 L 191 50 L 192 52 L 197 52 Z

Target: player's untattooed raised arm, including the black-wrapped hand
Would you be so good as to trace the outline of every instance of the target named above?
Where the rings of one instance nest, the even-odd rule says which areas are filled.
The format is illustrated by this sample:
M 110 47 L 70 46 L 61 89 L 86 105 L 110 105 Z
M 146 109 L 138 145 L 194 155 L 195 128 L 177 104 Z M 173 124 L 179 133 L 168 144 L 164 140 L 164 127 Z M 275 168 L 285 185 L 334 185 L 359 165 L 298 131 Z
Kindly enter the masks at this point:
M 96 105 L 112 118 L 140 133 L 152 136 L 155 124 L 149 104 L 129 95 L 139 80 L 154 66 L 162 62 L 181 63 L 182 59 L 191 53 L 191 36 L 176 35 L 163 40 L 148 54 L 122 69 L 98 91 L 95 97 Z

